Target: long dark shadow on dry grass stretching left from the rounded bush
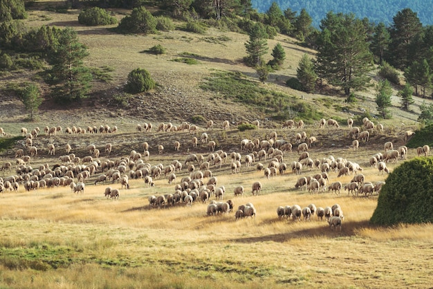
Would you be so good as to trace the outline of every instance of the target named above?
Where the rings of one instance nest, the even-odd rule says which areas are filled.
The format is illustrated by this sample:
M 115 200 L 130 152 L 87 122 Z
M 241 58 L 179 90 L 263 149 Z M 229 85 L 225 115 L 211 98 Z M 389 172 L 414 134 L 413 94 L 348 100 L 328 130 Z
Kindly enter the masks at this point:
M 276 220 L 273 220 L 276 221 Z M 270 222 L 270 220 L 266 221 Z M 288 221 L 288 225 L 290 225 L 292 221 Z M 300 221 L 302 222 L 302 221 Z M 308 229 L 302 229 L 302 228 L 296 228 L 296 227 L 288 227 L 288 232 L 283 232 L 279 234 L 269 234 L 266 236 L 254 236 L 254 237 L 238 237 L 235 239 L 229 239 L 228 241 L 232 241 L 234 243 L 257 243 L 257 242 L 266 242 L 266 241 L 273 241 L 273 242 L 279 242 L 284 243 L 291 239 L 300 239 L 302 237 L 325 237 L 329 239 L 339 238 L 341 236 L 355 236 L 356 231 L 359 230 L 362 227 L 369 227 L 368 221 L 343 221 L 342 223 L 342 230 L 332 230 L 329 228 L 328 223 L 326 221 L 323 221 L 323 227 L 320 228 L 308 228 Z

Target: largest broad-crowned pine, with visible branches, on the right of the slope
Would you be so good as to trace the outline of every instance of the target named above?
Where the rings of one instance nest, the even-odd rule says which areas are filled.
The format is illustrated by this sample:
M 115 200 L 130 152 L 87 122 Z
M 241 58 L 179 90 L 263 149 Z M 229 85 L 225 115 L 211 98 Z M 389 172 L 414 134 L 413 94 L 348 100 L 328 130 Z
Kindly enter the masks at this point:
M 317 74 L 330 84 L 341 86 L 345 95 L 365 88 L 369 82 L 372 55 L 365 26 L 353 14 L 329 12 L 317 38 Z

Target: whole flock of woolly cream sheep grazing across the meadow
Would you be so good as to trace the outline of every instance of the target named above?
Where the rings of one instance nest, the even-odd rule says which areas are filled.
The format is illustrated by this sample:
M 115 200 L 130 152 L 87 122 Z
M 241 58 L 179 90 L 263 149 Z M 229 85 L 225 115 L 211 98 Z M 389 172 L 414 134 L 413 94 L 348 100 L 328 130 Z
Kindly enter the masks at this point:
M 255 121 L 254 124 L 259 127 L 259 122 Z M 340 128 L 340 124 L 335 120 L 320 120 L 319 129 L 324 129 L 325 126 L 331 129 Z M 383 131 L 381 124 L 374 125 L 373 122 L 365 118 L 363 120 L 362 127 L 353 127 L 353 120 L 347 120 L 349 127 L 349 138 L 353 139 L 353 149 L 358 149 L 360 142 L 369 142 L 369 136 L 374 133 L 376 129 L 377 133 Z M 151 132 L 153 125 L 150 123 L 137 124 L 136 131 L 149 131 Z M 287 120 L 282 125 L 283 128 L 287 129 L 304 129 L 304 122 Z M 230 122 L 225 121 L 222 123 L 223 129 L 230 129 Z M 214 129 L 214 122 L 211 120 L 206 124 L 206 129 Z M 46 127 L 44 129 L 46 136 L 55 136 L 56 133 L 63 132 L 62 127 Z M 116 126 L 100 126 L 88 127 L 87 129 L 81 129 L 80 127 L 66 128 L 64 133 L 115 133 L 118 131 Z M 30 166 L 30 160 L 35 158 L 38 153 L 38 149 L 35 146 L 35 140 L 39 134 L 39 128 L 35 128 L 28 133 L 27 129 L 21 129 L 21 133 L 25 136 L 25 145 L 23 149 L 17 149 L 15 151 L 15 163 L 17 174 L 0 178 L 0 192 L 7 192 L 10 190 L 17 191 L 19 185 L 24 185 L 27 191 L 37 190 L 44 187 L 58 187 L 58 186 L 69 186 L 72 192 L 84 193 L 85 183 L 89 184 L 92 182 L 94 185 L 99 183 L 120 183 L 120 189 L 129 189 L 130 179 L 140 179 L 144 182 L 144 187 L 154 187 L 154 180 L 160 178 L 167 178 L 169 184 L 174 183 L 173 194 L 163 194 L 160 196 L 149 196 L 149 208 L 154 207 L 169 207 L 173 205 L 183 204 L 190 207 L 194 202 L 201 201 L 202 203 L 208 203 L 207 214 L 216 215 L 232 212 L 233 203 L 231 200 L 223 202 L 223 198 L 226 194 L 225 186 L 216 186 L 216 176 L 212 173 L 212 167 L 221 169 L 223 165 L 231 160 L 228 168 L 232 174 L 239 174 L 241 167 L 251 167 L 253 163 L 257 162 L 257 170 L 263 171 L 265 180 L 277 176 L 277 174 L 284 176 L 288 174 L 288 170 L 291 169 L 293 174 L 302 175 L 306 170 L 313 171 L 317 170 L 313 176 L 300 176 L 295 183 L 295 189 L 308 190 L 311 194 L 318 194 L 320 192 L 331 192 L 333 194 L 340 195 L 341 189 L 347 190 L 348 194 L 371 196 L 374 192 L 377 194 L 380 192 L 380 188 L 384 182 L 365 182 L 365 176 L 361 173 L 362 167 L 358 163 L 349 161 L 345 158 L 338 157 L 334 158 L 329 156 L 327 158 L 311 158 L 311 151 L 314 151 L 315 144 L 317 143 L 317 136 L 309 136 L 305 131 L 299 131 L 293 134 L 293 138 L 285 140 L 284 138 L 278 138 L 276 131 L 272 131 L 268 134 L 268 138 L 264 140 L 254 139 L 248 140 L 243 139 L 240 142 L 240 151 L 215 151 L 216 142 L 210 140 L 207 132 L 201 133 L 199 136 L 200 128 L 194 124 L 183 122 L 179 126 L 174 126 L 171 123 L 165 124 L 160 123 L 156 131 L 189 131 L 195 133 L 196 136 L 192 137 L 192 147 L 196 147 L 198 142 L 206 145 L 210 153 L 207 156 L 202 154 L 194 154 L 186 156 L 184 161 L 174 160 L 169 165 L 156 164 L 151 165 L 149 162 L 149 144 L 142 142 L 140 150 L 142 153 L 135 150 L 131 151 L 129 156 L 124 156 L 116 160 L 109 160 L 112 146 L 111 144 L 104 145 L 101 148 L 107 158 L 100 158 L 101 152 L 95 145 L 89 145 L 86 147 L 86 151 L 89 154 L 84 156 L 75 156 L 72 153 L 71 145 L 67 144 L 64 147 L 66 154 L 59 156 L 58 162 L 55 165 L 41 165 L 37 168 Z M 5 132 L 0 128 L 0 135 L 4 135 Z M 413 136 L 412 131 L 405 132 L 403 139 L 407 141 Z M 178 151 L 181 143 L 174 142 L 174 150 Z M 157 145 L 158 152 L 163 153 L 163 145 Z M 299 157 L 292 162 L 284 162 L 287 153 L 293 153 L 293 147 L 296 147 L 296 151 Z M 138 148 L 137 148 L 138 149 Z M 39 149 L 40 150 L 40 149 Z M 50 143 L 46 147 L 47 154 L 55 156 L 56 147 Z M 57 151 L 59 149 L 57 148 Z M 418 155 L 427 156 L 430 151 L 428 146 L 420 147 L 417 149 Z M 244 154 L 244 156 L 241 155 Z M 387 142 L 384 145 L 383 153 L 376 153 L 371 156 L 369 163 L 371 167 L 377 167 L 379 174 L 389 174 L 387 168 L 388 162 L 396 162 L 400 158 L 406 158 L 407 147 L 400 146 L 394 150 L 392 142 Z M 268 165 L 264 165 L 264 162 L 268 160 Z M 6 162 L 1 166 L 2 170 L 11 170 L 12 163 Z M 181 178 L 180 182 L 176 183 L 176 174 L 182 174 L 182 169 L 186 169 L 187 176 Z M 335 173 L 335 177 L 347 176 L 353 174 L 353 178 L 350 183 L 342 184 L 340 181 L 335 180 L 329 182 L 330 176 Z M 92 181 L 90 179 L 93 179 Z M 205 178 L 208 181 L 205 183 Z M 118 199 L 120 196 L 120 189 L 107 187 L 104 190 L 104 196 L 107 198 Z M 260 181 L 255 181 L 251 185 L 252 196 L 259 195 L 262 189 Z M 242 186 L 234 188 L 234 196 L 242 196 L 244 189 Z M 210 198 L 214 197 L 214 200 Z M 306 207 L 300 209 L 299 206 L 292 206 L 288 210 L 288 206 L 283 207 L 279 210 L 283 212 L 283 216 L 292 216 L 298 218 L 300 213 L 304 213 L 304 218 L 311 218 L 311 215 L 317 214 L 318 217 L 322 214 L 322 208 L 311 209 L 308 213 Z M 324 209 L 326 211 L 326 208 Z M 299 212 L 298 212 L 299 211 Z M 288 212 L 290 212 L 289 215 Z M 293 214 L 295 212 L 295 214 Z M 309 214 L 309 216 L 308 216 Z M 235 218 L 239 219 L 244 216 L 255 216 L 255 207 L 248 203 L 243 206 L 239 206 L 235 212 Z M 280 213 L 279 213 L 280 216 Z M 324 215 L 326 216 L 326 215 Z M 331 211 L 330 216 L 335 216 L 334 209 Z M 342 216 L 340 216 L 341 218 Z M 337 220 L 334 218 L 334 220 Z M 340 227 L 341 221 L 328 221 L 331 223 L 331 227 Z M 337 223 L 335 223 L 337 222 Z M 338 223 L 340 222 L 340 223 Z

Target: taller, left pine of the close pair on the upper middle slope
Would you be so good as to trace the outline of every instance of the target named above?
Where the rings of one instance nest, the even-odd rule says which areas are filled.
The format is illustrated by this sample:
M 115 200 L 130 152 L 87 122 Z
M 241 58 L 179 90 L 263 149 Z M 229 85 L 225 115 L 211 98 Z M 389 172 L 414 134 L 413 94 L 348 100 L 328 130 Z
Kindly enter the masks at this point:
M 266 29 L 262 24 L 256 23 L 250 30 L 250 40 L 246 41 L 245 47 L 248 53 L 246 62 L 250 66 L 257 66 L 263 62 L 263 55 L 268 52 L 268 40 Z

